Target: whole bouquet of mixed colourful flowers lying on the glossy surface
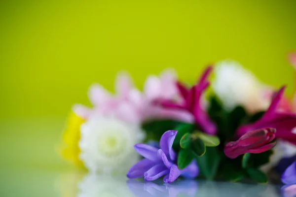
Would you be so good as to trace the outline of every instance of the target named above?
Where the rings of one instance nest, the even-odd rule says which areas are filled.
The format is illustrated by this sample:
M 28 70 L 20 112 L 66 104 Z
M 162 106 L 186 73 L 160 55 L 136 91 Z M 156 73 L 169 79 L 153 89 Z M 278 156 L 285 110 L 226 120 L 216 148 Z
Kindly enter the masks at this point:
M 130 179 L 266 183 L 265 172 L 296 154 L 296 102 L 285 89 L 259 82 L 233 61 L 207 66 L 193 86 L 164 70 L 148 76 L 143 92 L 121 72 L 115 95 L 94 84 L 93 107 L 73 106 L 62 155 L 91 173 Z

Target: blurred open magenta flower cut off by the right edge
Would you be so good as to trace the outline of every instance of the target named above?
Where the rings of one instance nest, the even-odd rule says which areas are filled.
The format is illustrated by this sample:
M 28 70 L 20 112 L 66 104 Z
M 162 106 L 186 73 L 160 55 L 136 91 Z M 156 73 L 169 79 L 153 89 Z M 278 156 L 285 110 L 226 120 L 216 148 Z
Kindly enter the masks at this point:
M 286 87 L 284 86 L 277 92 L 262 118 L 255 123 L 243 125 L 238 128 L 237 135 L 242 136 L 248 131 L 263 129 L 266 127 L 275 128 L 277 131 L 275 134 L 276 138 L 281 138 L 296 144 L 296 114 L 277 111 L 278 104 L 283 97 L 285 88 Z

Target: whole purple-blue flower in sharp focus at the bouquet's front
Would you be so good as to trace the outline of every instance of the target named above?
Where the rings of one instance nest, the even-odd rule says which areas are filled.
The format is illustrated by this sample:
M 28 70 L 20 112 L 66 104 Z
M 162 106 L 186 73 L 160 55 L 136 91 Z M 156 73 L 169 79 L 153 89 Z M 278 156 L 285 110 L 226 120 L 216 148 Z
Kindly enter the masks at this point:
M 154 181 L 164 176 L 165 183 L 174 182 L 180 175 L 186 178 L 196 177 L 199 169 L 195 160 L 182 170 L 176 165 L 177 155 L 172 145 L 177 132 L 170 130 L 163 133 L 160 138 L 160 149 L 147 144 L 136 144 L 136 151 L 145 159 L 133 165 L 127 172 L 127 177 L 144 177 L 146 181 Z

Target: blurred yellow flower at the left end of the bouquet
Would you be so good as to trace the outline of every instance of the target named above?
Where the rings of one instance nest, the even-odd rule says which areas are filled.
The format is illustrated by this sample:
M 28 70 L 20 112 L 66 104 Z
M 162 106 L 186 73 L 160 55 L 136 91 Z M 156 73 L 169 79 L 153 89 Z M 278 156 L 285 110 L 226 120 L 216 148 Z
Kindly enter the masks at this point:
M 62 156 L 71 163 L 84 167 L 83 162 L 79 159 L 80 148 L 80 125 L 85 120 L 77 116 L 73 111 L 70 112 L 65 131 L 63 133 L 63 146 L 61 149 Z

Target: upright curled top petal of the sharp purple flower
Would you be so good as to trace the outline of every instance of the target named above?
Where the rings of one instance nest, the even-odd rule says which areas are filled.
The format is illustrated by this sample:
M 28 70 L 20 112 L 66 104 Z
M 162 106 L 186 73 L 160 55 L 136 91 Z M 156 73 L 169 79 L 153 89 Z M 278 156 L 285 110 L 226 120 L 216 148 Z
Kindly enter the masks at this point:
M 171 159 L 171 161 L 175 161 L 176 159 L 176 153 L 174 152 L 172 146 L 177 132 L 178 131 L 174 130 L 166 131 L 160 138 L 160 148 L 167 157 Z

